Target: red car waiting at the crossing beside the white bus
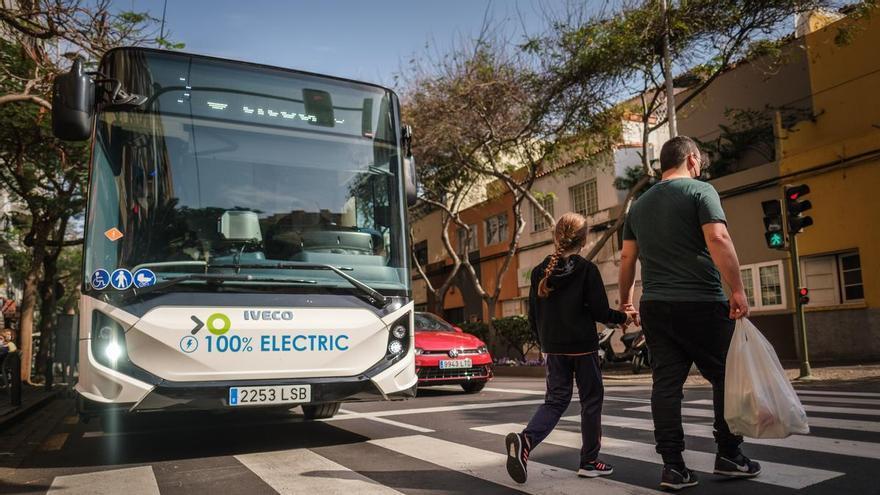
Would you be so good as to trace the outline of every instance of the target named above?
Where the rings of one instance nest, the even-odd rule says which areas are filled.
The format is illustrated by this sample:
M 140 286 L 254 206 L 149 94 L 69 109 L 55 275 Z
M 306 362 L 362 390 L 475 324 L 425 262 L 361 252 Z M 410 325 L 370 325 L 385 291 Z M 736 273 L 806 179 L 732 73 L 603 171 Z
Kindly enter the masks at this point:
M 473 394 L 492 379 L 492 356 L 482 340 L 431 313 L 415 314 L 419 386 L 461 385 Z

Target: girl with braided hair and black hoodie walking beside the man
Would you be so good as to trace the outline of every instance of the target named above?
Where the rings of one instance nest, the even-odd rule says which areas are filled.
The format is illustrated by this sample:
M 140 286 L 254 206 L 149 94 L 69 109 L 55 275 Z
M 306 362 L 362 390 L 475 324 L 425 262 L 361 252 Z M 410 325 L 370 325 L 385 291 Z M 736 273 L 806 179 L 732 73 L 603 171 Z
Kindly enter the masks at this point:
M 546 356 L 547 394 L 526 429 L 505 439 L 507 472 L 517 483 L 528 477 L 529 452 L 547 438 L 568 408 L 573 382 L 580 396 L 583 437 L 577 474 L 594 478 L 613 472 L 598 459 L 604 389 L 596 322 L 626 328 L 636 313 L 608 306 L 599 269 L 578 254 L 587 243 L 587 230 L 583 216 L 563 215 L 554 231 L 555 252 L 532 270 L 529 324 Z

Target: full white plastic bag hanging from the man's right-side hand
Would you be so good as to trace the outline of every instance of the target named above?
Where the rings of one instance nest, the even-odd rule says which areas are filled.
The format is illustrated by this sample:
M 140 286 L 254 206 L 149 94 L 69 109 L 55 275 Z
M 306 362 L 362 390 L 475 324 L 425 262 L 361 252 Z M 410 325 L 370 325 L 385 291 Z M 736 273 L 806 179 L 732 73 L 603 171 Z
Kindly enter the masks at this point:
M 809 433 L 807 414 L 773 346 L 746 318 L 737 320 L 724 377 L 724 419 L 752 438 Z

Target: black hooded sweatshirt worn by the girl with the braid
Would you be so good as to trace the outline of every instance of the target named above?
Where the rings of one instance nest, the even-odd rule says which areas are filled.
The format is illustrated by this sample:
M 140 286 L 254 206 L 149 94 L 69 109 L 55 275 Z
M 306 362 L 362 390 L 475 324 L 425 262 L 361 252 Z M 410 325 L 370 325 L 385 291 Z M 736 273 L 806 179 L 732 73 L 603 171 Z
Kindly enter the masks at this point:
M 529 290 L 529 324 L 541 351 L 580 354 L 599 350 L 596 322 L 624 323 L 626 314 L 608 306 L 599 269 L 578 255 L 559 260 L 547 280 L 550 295 L 538 297 L 538 284 L 548 263 L 549 256 L 532 270 Z

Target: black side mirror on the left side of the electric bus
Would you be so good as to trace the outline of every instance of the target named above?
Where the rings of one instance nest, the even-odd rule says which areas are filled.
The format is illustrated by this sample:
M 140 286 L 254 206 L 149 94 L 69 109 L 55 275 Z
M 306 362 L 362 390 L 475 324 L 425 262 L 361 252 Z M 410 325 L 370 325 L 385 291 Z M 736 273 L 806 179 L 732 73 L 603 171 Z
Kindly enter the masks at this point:
M 52 133 L 65 141 L 85 141 L 95 119 L 95 82 L 81 60 L 52 84 Z

